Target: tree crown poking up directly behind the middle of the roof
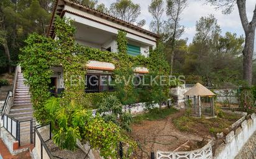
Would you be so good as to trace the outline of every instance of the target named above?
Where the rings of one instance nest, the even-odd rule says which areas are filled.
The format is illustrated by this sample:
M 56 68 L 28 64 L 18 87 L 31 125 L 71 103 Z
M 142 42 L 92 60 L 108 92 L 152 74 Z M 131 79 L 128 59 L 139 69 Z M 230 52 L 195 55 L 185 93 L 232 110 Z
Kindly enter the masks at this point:
M 110 14 L 126 22 L 134 23 L 140 15 L 140 5 L 131 0 L 117 0 L 110 6 Z

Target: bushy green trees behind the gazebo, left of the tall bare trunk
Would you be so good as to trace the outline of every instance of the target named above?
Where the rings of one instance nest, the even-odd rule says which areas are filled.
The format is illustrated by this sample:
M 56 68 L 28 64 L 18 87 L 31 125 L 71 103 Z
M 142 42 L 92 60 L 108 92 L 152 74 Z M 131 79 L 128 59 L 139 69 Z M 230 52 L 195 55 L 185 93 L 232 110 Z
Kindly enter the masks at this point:
M 180 64 L 183 69 L 180 72 L 201 75 L 208 85 L 237 84 L 242 79 L 243 44 L 244 38 L 235 33 L 222 36 L 213 15 L 201 17 L 196 22 L 196 34 L 188 46 L 184 64 Z

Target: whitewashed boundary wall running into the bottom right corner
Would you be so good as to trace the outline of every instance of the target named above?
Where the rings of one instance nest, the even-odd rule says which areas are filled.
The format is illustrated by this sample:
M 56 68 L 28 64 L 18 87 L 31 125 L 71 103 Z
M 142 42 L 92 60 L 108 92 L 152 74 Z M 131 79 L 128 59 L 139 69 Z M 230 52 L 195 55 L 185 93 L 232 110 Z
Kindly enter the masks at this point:
M 256 118 L 255 114 L 251 114 L 249 119 L 240 124 L 240 127 L 226 135 L 225 143 L 217 147 L 214 159 L 235 158 L 255 131 Z

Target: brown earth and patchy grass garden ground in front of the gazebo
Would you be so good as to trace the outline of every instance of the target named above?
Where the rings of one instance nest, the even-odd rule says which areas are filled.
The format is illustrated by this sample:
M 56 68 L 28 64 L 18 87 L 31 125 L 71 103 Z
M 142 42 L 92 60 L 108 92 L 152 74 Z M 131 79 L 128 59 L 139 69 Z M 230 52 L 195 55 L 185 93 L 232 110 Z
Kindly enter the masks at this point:
M 227 129 L 242 115 L 235 113 L 219 113 L 216 118 L 206 119 L 186 116 L 185 110 L 174 108 L 155 108 L 148 113 L 139 114 L 132 118 L 131 132 L 128 134 L 134 139 L 138 148 L 135 151 L 137 158 L 150 158 L 151 152 L 158 150 L 190 151 L 203 147 L 209 139 L 216 144 L 218 132 Z

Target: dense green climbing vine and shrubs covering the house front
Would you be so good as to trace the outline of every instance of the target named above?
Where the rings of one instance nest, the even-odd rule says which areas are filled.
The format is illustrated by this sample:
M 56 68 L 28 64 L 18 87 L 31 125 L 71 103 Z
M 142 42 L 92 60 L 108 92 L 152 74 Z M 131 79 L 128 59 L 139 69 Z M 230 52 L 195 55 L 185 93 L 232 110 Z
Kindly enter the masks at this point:
M 99 114 L 93 117 L 88 109 L 92 107 L 90 100 L 93 97 L 85 93 L 86 64 L 88 60 L 95 60 L 112 62 L 116 67 L 113 72 L 115 92 L 99 93 L 98 96 L 93 95 L 94 97 L 103 98 L 114 94 L 122 105 L 132 105 L 146 96 L 145 101 L 160 103 L 168 97 L 170 82 L 165 86 L 152 85 L 146 89 L 137 89 L 132 85 L 130 77 L 134 76 L 135 67 L 148 67 L 149 75 L 154 77 L 168 75 L 168 63 L 162 52 L 158 49 L 151 50 L 149 58 L 130 56 L 127 54 L 126 32 L 122 30 L 117 35 L 118 53 L 79 45 L 75 43 L 72 20 L 60 17 L 55 21 L 55 37 L 52 40 L 37 34 L 30 35 L 19 56 L 24 77 L 30 85 L 37 121 L 42 124 L 52 122 L 53 140 L 61 148 L 73 150 L 76 139 L 79 139 L 81 142 L 89 142 L 93 148 L 98 148 L 101 156 L 116 158 L 119 141 L 135 147 L 134 142 L 122 134 L 120 126 L 104 120 Z M 53 74 L 52 66 L 63 68 L 65 90 L 62 98 L 50 98 L 48 92 Z M 128 84 L 126 80 L 129 80 Z M 157 80 L 160 80 L 159 77 Z M 129 129 L 127 125 L 122 127 Z

